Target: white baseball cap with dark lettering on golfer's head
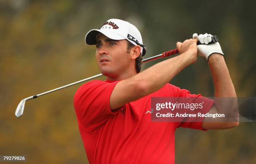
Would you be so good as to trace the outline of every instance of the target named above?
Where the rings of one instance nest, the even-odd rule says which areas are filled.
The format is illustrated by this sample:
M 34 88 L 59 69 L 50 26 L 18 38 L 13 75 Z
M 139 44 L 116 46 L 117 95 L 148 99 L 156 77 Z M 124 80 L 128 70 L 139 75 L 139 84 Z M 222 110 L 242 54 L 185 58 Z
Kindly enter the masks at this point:
M 95 45 L 96 37 L 99 33 L 102 33 L 106 37 L 113 40 L 126 39 L 133 45 L 141 46 L 142 56 L 146 54 L 146 47 L 143 45 L 141 33 L 134 25 L 129 22 L 119 19 L 110 19 L 105 22 L 99 30 L 90 30 L 85 36 L 85 43 L 87 45 Z

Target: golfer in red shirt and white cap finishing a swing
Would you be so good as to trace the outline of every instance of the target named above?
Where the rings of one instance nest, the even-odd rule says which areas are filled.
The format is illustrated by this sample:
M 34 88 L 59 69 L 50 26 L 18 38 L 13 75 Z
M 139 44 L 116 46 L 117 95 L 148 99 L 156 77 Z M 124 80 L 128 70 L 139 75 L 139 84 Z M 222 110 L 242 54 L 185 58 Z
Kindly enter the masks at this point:
M 199 35 L 208 44 L 210 35 Z M 197 37 L 195 35 L 195 37 Z M 201 97 L 168 82 L 197 60 L 197 38 L 177 42 L 180 55 L 140 72 L 145 55 L 138 29 L 123 20 L 110 19 L 85 37 L 96 45 L 96 60 L 106 81 L 83 84 L 74 96 L 79 131 L 91 164 L 173 164 L 174 132 L 178 127 L 227 129 L 238 122 L 152 122 L 151 97 Z M 215 97 L 236 97 L 219 43 L 202 45 L 198 53 L 209 62 Z M 199 47 L 198 47 L 199 48 Z M 219 112 L 206 99 L 210 112 Z M 205 108 L 204 113 L 208 112 Z

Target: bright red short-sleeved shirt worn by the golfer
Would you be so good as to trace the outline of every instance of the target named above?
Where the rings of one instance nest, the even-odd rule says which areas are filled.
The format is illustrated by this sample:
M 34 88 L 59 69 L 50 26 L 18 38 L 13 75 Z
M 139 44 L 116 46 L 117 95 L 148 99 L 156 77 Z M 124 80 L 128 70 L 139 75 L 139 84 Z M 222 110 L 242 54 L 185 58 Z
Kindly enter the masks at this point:
M 93 80 L 74 95 L 79 131 L 90 164 L 174 164 L 178 127 L 202 129 L 202 122 L 152 122 L 151 97 L 199 97 L 172 84 L 110 110 L 110 95 L 119 81 Z M 206 113 L 214 101 L 205 102 Z

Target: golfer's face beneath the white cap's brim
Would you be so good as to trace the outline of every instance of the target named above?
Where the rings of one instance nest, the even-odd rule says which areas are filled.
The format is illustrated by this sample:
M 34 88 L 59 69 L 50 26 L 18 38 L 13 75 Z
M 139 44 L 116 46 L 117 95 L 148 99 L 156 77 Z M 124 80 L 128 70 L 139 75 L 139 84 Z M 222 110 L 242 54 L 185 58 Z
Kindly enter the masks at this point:
M 131 67 L 127 41 L 112 40 L 100 33 L 96 38 L 96 60 L 103 75 L 117 78 Z

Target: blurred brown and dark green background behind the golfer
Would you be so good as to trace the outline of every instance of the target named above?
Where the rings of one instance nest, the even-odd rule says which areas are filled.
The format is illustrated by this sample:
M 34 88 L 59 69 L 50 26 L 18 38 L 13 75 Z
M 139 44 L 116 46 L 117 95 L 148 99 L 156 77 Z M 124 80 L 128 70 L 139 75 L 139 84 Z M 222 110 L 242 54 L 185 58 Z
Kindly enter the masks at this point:
M 29 164 L 88 163 L 73 107 L 80 85 L 26 102 L 20 118 L 14 112 L 23 98 L 99 74 L 95 46 L 85 45 L 84 36 L 110 18 L 138 27 L 146 58 L 193 33 L 218 35 L 238 97 L 256 97 L 255 6 L 252 0 L 0 0 L 0 155 L 26 155 Z M 202 57 L 171 83 L 214 95 Z M 255 129 L 245 122 L 219 131 L 179 128 L 175 162 L 255 164 Z

